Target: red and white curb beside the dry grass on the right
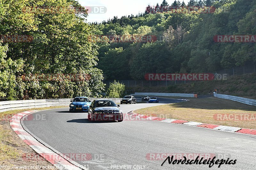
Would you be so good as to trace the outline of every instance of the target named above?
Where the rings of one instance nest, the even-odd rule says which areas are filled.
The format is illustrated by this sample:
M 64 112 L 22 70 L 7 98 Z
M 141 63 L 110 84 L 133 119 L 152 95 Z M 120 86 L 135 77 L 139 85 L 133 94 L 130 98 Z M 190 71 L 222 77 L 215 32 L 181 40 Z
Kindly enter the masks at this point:
M 220 125 L 213 125 L 213 124 L 200 123 L 200 122 L 190 122 L 190 121 L 183 121 L 183 120 L 176 120 L 176 119 L 167 119 L 167 118 L 161 118 L 161 117 L 155 117 L 155 116 L 140 115 L 140 114 L 134 113 L 133 111 L 130 111 L 127 114 L 134 116 L 134 117 L 141 118 L 141 119 L 148 119 L 148 120 L 153 120 L 153 121 L 177 123 L 177 124 L 184 124 L 184 125 L 188 125 L 188 126 L 195 126 L 195 127 L 201 127 L 201 128 L 207 128 L 207 129 L 222 130 L 222 131 L 226 131 L 226 132 L 236 132 L 236 133 L 242 133 L 242 134 L 247 134 L 247 135 L 256 135 L 255 129 L 244 129 L 244 128 L 220 126 Z

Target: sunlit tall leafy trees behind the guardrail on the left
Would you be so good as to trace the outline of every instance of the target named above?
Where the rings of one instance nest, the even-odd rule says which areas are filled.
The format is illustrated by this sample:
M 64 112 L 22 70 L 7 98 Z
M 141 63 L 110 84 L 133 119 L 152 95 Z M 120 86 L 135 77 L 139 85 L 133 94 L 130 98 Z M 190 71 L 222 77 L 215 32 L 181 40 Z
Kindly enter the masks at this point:
M 104 84 L 87 15 L 75 0 L 1 0 L 0 99 L 97 97 Z

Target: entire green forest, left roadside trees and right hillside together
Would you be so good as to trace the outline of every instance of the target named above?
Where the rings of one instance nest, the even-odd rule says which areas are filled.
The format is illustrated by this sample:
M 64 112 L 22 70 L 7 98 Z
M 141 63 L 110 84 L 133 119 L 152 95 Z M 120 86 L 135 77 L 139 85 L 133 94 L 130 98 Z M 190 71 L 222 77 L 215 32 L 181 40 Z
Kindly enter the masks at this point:
M 0 100 L 98 97 L 103 79 L 212 71 L 256 58 L 253 42 L 214 41 L 256 35 L 256 0 L 164 0 L 102 23 L 88 23 L 76 0 L 1 0 L 0 16 Z

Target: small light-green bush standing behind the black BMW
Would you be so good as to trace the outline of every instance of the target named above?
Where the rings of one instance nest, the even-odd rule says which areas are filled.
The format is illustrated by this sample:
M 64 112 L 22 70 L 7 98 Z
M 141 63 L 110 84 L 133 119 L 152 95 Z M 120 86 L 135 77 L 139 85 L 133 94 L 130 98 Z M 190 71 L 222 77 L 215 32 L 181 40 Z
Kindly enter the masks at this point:
M 106 96 L 108 98 L 122 98 L 125 95 L 125 85 L 122 83 L 116 82 L 110 83 Z

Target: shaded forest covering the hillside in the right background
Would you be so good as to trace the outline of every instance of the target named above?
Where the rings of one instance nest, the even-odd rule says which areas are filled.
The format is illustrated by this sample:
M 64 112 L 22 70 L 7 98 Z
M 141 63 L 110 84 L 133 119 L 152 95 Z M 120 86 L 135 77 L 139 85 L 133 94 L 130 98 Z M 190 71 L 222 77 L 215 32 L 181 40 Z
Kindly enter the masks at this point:
M 103 70 L 104 78 L 138 80 L 146 73 L 207 72 L 256 61 L 255 41 L 214 41 L 216 35 L 256 35 L 256 0 L 169 3 L 149 4 L 136 16 L 92 24 L 95 35 L 100 35 L 94 42 L 100 46 L 97 67 Z M 211 10 L 204 6 L 211 6 Z M 109 41 L 103 41 L 102 35 Z M 143 35 L 153 38 L 140 41 Z M 122 41 L 126 37 L 140 40 Z

